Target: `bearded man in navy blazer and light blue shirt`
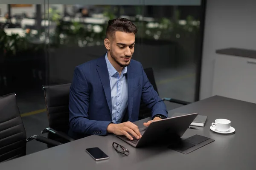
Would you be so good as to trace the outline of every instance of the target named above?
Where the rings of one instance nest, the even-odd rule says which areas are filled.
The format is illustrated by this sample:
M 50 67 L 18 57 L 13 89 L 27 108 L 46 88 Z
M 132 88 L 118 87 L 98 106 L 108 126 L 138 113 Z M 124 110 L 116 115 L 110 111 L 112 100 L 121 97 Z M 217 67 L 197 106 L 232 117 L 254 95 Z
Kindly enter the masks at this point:
M 131 59 L 136 33 L 130 20 L 109 20 L 104 40 L 107 53 L 75 68 L 69 104 L 69 134 L 73 138 L 108 133 L 131 140 L 132 136 L 141 138 L 132 123 L 138 120 L 141 99 L 151 108 L 152 121 L 167 117 L 166 105 L 148 81 L 143 66 Z

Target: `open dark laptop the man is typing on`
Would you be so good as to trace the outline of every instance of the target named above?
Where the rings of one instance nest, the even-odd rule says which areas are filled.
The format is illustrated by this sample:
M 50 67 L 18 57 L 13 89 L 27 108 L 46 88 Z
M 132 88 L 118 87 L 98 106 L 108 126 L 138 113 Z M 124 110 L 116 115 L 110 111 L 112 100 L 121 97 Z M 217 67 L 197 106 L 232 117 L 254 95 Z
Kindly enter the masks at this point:
M 198 113 L 186 114 L 170 117 L 156 122 L 152 122 L 148 127 L 140 129 L 142 137 L 133 140 L 126 136 L 117 136 L 133 147 L 144 147 L 152 144 L 169 144 L 180 139 Z

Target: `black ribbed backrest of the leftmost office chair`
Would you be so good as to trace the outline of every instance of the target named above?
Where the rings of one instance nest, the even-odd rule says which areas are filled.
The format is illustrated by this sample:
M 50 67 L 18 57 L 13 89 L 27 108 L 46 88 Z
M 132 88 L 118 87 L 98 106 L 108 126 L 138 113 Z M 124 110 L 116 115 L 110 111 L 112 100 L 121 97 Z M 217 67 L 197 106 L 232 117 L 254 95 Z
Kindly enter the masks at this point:
M 0 96 L 0 162 L 26 155 L 26 131 L 14 93 Z

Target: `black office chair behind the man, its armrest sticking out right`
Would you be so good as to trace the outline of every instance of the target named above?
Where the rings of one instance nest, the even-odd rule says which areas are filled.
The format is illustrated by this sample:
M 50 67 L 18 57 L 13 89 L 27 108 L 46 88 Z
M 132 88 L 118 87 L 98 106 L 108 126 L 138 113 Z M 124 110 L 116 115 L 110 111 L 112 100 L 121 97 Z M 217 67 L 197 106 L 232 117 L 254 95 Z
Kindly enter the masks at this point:
M 156 84 L 156 81 L 154 79 L 154 71 L 153 71 L 153 68 L 145 68 L 144 69 L 145 71 L 145 74 L 147 75 L 148 77 L 148 80 L 149 82 L 151 83 L 151 85 L 153 86 L 154 90 L 157 92 L 158 94 L 158 90 L 157 90 L 157 84 Z M 177 103 L 177 104 L 180 104 L 180 105 L 188 105 L 190 104 L 190 102 L 185 102 L 185 101 L 182 101 L 182 100 L 178 100 L 178 99 L 172 99 L 172 98 L 163 98 L 162 99 L 163 101 L 169 101 L 169 102 L 172 102 L 172 103 Z M 145 106 L 145 104 L 143 102 L 140 103 L 140 113 L 139 113 L 139 120 L 140 119 L 144 119 L 144 118 L 147 118 L 147 117 L 150 117 L 151 116 L 151 109 L 147 108 Z

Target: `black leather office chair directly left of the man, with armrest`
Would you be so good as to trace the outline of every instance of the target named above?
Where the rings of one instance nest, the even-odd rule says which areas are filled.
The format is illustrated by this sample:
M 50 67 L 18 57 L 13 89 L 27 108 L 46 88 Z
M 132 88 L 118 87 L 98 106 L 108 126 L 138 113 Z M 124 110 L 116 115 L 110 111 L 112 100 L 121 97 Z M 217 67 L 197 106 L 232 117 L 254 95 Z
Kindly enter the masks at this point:
M 44 85 L 44 98 L 47 108 L 49 127 L 41 133 L 48 132 L 48 138 L 67 143 L 73 141 L 67 135 L 69 129 L 69 91 L 71 83 L 61 85 Z M 51 147 L 48 145 L 48 147 Z

